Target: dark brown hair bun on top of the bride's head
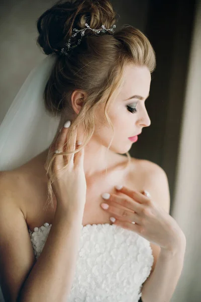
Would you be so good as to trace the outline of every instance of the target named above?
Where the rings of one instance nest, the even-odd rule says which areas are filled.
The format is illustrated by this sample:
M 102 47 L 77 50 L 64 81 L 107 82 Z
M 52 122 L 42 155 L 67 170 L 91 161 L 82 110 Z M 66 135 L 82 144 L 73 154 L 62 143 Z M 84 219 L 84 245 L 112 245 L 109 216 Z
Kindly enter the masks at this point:
M 110 28 L 116 22 L 116 13 L 108 0 L 59 0 L 37 20 L 38 45 L 44 53 L 60 53 L 64 43 L 73 34 L 73 28 L 84 29 L 85 23 L 98 29 L 102 25 Z M 87 30 L 86 35 L 93 34 Z

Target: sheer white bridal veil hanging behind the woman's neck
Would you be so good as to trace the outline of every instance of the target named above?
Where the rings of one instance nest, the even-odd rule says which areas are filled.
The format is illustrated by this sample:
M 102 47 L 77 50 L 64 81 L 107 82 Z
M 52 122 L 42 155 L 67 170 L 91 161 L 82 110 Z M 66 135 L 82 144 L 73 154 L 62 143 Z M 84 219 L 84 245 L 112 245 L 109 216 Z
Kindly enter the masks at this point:
M 0 171 L 15 169 L 48 148 L 60 117 L 45 110 L 43 92 L 56 54 L 28 75 L 0 125 Z

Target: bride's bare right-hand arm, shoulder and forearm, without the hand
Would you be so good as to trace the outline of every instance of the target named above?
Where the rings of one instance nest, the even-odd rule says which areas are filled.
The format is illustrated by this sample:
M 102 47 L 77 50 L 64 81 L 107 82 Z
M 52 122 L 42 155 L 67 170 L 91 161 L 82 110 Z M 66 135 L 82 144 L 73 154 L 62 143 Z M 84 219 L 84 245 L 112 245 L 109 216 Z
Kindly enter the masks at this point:
M 166 173 L 156 164 L 149 162 L 146 188 L 151 196 L 169 214 L 170 193 Z M 165 250 L 152 246 L 155 265 L 142 286 L 141 302 L 169 302 L 181 274 L 185 254 L 186 239 L 183 232 L 178 233 L 177 246 Z

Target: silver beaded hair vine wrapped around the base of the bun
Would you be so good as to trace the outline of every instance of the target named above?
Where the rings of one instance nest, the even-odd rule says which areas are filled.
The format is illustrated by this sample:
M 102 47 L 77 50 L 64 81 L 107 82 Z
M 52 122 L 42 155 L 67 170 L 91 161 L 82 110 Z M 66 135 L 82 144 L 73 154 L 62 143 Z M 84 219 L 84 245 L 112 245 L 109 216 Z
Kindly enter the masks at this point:
M 105 27 L 105 25 L 102 25 L 102 28 L 100 28 L 100 29 L 92 29 L 92 28 L 90 28 L 89 27 L 89 25 L 87 24 L 87 23 L 85 23 L 85 26 L 86 26 L 86 28 L 83 28 L 83 29 L 80 29 L 80 30 L 78 30 L 78 29 L 76 29 L 76 28 L 73 28 L 73 32 L 75 32 L 75 34 L 73 34 L 71 37 L 75 37 L 79 32 L 80 32 L 80 34 L 81 34 L 81 39 L 82 39 L 82 37 L 84 36 L 84 32 L 85 32 L 85 30 L 87 30 L 87 29 L 91 29 L 93 32 L 95 32 L 95 34 L 99 34 L 100 32 L 106 32 L 106 31 L 111 31 L 112 33 L 114 33 L 114 28 L 116 28 L 116 25 L 114 24 L 111 28 L 109 28 L 109 29 L 107 29 L 106 27 Z M 73 46 L 71 46 L 73 43 L 71 42 L 71 37 L 68 39 L 68 42 L 66 42 L 64 45 L 64 47 L 61 49 L 61 54 L 65 54 L 65 55 L 68 55 L 68 51 L 69 50 L 71 50 L 72 48 L 74 48 L 74 47 L 76 47 L 77 45 L 79 45 L 80 44 L 80 42 L 81 42 L 81 39 L 78 39 L 78 42 L 77 42 L 77 44 L 74 44 Z

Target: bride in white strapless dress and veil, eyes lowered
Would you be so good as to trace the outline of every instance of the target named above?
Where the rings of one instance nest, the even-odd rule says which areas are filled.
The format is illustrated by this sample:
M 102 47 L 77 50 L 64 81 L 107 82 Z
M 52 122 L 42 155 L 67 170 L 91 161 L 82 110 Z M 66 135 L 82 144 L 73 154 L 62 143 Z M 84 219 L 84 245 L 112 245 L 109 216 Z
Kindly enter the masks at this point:
M 129 155 L 151 124 L 155 53 L 115 23 L 110 0 L 59 1 L 37 20 L 47 57 L 0 127 L 6 301 L 167 302 L 178 282 L 166 174 Z

